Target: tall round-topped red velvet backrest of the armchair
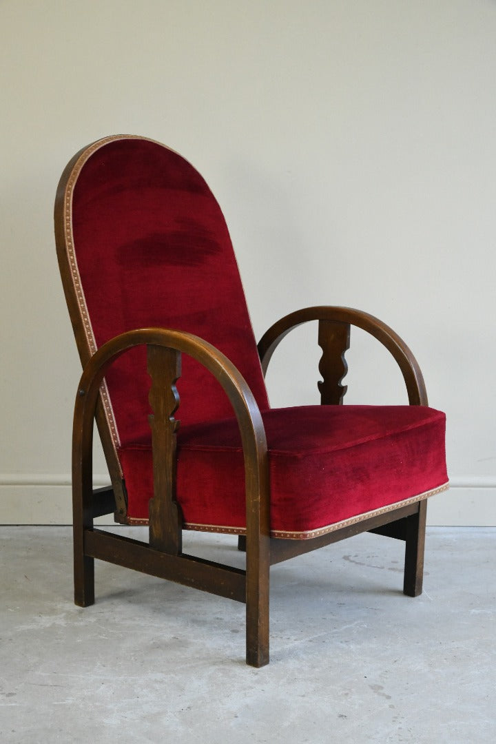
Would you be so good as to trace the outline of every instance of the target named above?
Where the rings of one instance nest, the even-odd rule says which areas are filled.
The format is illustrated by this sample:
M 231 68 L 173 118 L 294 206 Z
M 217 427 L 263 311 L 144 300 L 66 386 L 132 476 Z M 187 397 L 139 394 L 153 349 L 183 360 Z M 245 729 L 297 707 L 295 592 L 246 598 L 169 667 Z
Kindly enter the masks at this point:
M 73 174 L 68 252 L 88 350 L 133 328 L 195 333 L 231 359 L 267 408 L 228 228 L 202 176 L 167 147 L 135 137 L 95 143 Z M 145 350 L 118 359 L 106 384 L 115 445 L 149 440 Z M 219 383 L 185 356 L 178 392 L 183 424 L 233 415 Z

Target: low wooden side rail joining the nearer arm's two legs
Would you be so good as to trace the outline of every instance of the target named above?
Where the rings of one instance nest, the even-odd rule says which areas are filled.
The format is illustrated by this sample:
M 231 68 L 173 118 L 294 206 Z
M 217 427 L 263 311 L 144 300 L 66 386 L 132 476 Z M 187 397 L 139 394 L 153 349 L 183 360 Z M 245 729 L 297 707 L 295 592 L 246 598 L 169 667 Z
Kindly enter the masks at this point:
M 194 589 L 245 602 L 245 571 L 202 558 L 173 556 L 146 543 L 103 530 L 85 533 L 85 550 L 91 558 L 109 561 L 144 574 L 167 579 Z

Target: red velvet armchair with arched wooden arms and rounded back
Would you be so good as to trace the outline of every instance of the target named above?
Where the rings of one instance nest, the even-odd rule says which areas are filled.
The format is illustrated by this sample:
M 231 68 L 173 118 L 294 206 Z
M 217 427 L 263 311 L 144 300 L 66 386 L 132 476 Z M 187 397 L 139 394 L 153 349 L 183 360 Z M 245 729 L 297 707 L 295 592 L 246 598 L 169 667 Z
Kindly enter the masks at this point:
M 216 199 L 181 155 L 146 138 L 108 137 L 72 158 L 55 232 L 84 368 L 77 605 L 94 603 L 95 558 L 230 597 L 246 603 L 246 661 L 261 667 L 271 564 L 369 530 L 405 541 L 403 591 L 420 594 L 427 498 L 448 487 L 445 416 L 427 407 L 422 373 L 393 330 L 358 310 L 310 307 L 257 349 Z M 318 321 L 322 405 L 270 408 L 269 359 L 306 321 Z M 341 405 L 352 325 L 396 359 L 410 405 Z M 112 481 L 97 490 L 95 416 Z M 112 512 L 149 525 L 149 542 L 94 528 Z M 182 530 L 239 536 L 245 570 L 184 554 Z

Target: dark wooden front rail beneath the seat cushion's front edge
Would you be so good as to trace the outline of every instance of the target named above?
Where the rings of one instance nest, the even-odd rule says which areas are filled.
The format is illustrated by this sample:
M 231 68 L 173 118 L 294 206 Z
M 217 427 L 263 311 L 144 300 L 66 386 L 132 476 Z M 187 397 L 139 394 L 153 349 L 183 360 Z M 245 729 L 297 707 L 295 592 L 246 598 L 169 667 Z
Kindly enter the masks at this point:
M 331 545 L 332 542 L 339 542 L 340 540 L 347 539 L 354 535 L 359 535 L 361 532 L 371 532 L 374 527 L 378 525 L 387 524 L 389 522 L 395 522 L 398 519 L 404 519 L 410 517 L 418 512 L 417 504 L 409 504 L 406 507 L 399 507 L 393 511 L 385 514 L 379 514 L 378 516 L 364 519 L 361 522 L 356 522 L 355 525 L 349 525 L 347 527 L 341 527 L 339 530 L 329 532 L 326 535 L 320 537 L 314 537 L 309 540 L 285 540 L 285 539 L 271 539 L 271 565 L 274 563 L 280 563 L 302 555 L 304 553 L 310 553 L 311 551 L 318 550 L 318 548 L 324 548 L 326 545 Z

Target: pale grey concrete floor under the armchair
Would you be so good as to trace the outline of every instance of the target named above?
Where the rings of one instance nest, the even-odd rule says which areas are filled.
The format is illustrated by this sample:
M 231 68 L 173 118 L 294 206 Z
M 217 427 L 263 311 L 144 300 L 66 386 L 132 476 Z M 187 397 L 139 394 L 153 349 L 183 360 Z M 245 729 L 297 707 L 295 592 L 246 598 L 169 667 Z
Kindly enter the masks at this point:
M 186 543 L 242 560 L 232 537 Z M 274 566 L 255 670 L 244 606 L 98 562 L 80 609 L 69 528 L 0 527 L 0 740 L 493 744 L 496 529 L 428 530 L 422 597 L 401 563 L 365 534 Z

